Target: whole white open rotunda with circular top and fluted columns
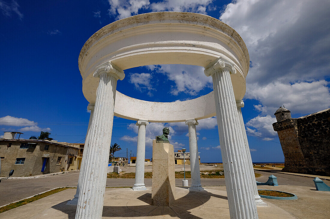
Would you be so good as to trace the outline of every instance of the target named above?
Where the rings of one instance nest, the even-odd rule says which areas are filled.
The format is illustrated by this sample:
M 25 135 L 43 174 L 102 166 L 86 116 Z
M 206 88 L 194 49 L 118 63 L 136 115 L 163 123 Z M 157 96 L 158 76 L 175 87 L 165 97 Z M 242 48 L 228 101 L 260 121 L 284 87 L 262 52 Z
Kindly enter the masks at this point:
M 124 70 L 152 64 L 205 67 L 213 92 L 196 99 L 159 103 L 116 91 Z M 77 193 L 76 218 L 101 218 L 113 117 L 137 121 L 136 180 L 143 190 L 145 135 L 149 122 L 185 122 L 189 132 L 191 190 L 202 190 L 197 120 L 216 115 L 231 218 L 258 218 L 258 195 L 241 107 L 249 55 L 238 33 L 213 17 L 188 12 L 153 12 L 115 21 L 93 34 L 79 55 L 82 90 L 91 115 Z M 197 158 L 197 159 L 196 159 Z M 134 192 L 134 191 L 132 191 Z

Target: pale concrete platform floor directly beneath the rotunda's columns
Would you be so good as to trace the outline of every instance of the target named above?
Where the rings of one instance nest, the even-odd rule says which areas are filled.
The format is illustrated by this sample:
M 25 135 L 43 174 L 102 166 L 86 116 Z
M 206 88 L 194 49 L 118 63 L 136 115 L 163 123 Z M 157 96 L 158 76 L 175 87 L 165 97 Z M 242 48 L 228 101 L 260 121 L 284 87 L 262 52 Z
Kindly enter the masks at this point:
M 66 202 L 75 194 L 67 189 L 43 199 L 0 214 L 0 218 L 74 218 L 75 206 Z M 295 218 L 288 211 L 267 202 L 258 207 L 259 218 Z M 33 210 L 32 210 L 33 209 Z M 224 186 L 205 187 L 201 192 L 189 192 L 176 187 L 176 200 L 170 207 L 151 206 L 151 187 L 145 191 L 131 188 L 107 188 L 103 218 L 229 218 Z M 306 217 L 305 217 L 306 218 Z

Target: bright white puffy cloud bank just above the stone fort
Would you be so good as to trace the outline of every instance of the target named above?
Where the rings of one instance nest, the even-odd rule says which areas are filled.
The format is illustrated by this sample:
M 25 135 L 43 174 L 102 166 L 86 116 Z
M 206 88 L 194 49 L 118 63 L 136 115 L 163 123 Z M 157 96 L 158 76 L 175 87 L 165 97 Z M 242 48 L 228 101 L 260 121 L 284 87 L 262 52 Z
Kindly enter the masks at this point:
M 294 84 L 276 82 L 254 86 L 247 90 L 245 97 L 262 103 L 254 106 L 262 115 L 274 115 L 283 105 L 292 113 L 309 114 L 330 107 L 328 84 L 325 80 Z

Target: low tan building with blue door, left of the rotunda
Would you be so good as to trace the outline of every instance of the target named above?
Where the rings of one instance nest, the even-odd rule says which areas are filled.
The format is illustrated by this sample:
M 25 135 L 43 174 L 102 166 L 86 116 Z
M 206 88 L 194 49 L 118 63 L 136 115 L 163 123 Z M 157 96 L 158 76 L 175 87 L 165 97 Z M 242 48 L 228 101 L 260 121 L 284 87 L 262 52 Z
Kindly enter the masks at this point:
M 6 134 L 4 137 L 12 138 L 14 135 Z M 67 142 L 0 138 L 0 176 L 8 176 L 12 169 L 14 177 L 76 170 L 80 166 L 77 158 L 82 155 L 79 152 L 80 148 Z

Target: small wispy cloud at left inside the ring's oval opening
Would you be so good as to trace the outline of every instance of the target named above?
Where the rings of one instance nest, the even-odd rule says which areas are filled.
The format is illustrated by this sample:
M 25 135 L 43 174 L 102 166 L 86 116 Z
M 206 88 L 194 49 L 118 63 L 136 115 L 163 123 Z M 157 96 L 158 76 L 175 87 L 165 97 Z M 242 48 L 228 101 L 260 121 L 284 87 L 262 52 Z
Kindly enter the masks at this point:
M 134 84 L 135 88 L 141 92 L 148 91 L 148 95 L 152 96 L 151 91 L 155 88 L 151 85 L 152 76 L 149 73 L 133 73 L 130 75 L 129 82 Z

